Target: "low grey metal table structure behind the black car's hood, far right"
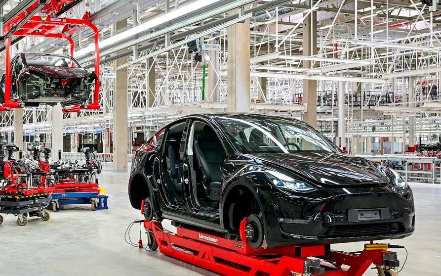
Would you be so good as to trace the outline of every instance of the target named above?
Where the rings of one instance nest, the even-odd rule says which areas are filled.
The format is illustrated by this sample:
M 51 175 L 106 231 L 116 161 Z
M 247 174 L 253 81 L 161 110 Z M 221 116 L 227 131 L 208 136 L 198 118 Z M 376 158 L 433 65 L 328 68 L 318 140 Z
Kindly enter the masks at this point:
M 406 180 L 441 184 L 441 159 L 414 154 L 359 155 L 370 161 L 391 167 Z

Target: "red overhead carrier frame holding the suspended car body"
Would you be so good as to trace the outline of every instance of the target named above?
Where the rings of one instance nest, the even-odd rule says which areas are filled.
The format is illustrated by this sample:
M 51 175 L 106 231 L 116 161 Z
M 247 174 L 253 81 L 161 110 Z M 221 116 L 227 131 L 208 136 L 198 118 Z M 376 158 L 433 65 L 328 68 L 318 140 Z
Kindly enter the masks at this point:
M 42 3 L 44 2 L 44 3 Z M 30 5 L 25 11 L 17 15 L 15 18 L 6 22 L 3 27 L 5 34 L 6 47 L 6 79 L 5 79 L 5 93 L 4 104 L 0 105 L 0 111 L 8 110 L 9 108 L 21 108 L 19 99 L 10 99 L 11 94 L 11 36 L 40 36 L 55 39 L 66 39 L 71 48 L 71 56 L 74 55 L 75 44 L 71 37 L 78 28 L 89 27 L 95 35 L 95 74 L 98 79 L 95 83 L 95 91 L 93 94 L 93 102 L 87 106 L 80 106 L 76 104 L 69 108 L 64 108 L 64 112 L 79 112 L 81 109 L 99 109 L 99 76 L 100 76 L 100 52 L 99 52 L 99 32 L 98 28 L 89 20 L 89 13 L 84 14 L 82 19 L 59 18 L 51 17 L 49 15 L 57 14 L 60 10 L 68 4 L 78 2 L 76 0 L 38 0 Z M 42 12 L 47 16 L 34 16 L 34 14 Z M 59 33 L 54 33 L 59 27 L 63 27 Z

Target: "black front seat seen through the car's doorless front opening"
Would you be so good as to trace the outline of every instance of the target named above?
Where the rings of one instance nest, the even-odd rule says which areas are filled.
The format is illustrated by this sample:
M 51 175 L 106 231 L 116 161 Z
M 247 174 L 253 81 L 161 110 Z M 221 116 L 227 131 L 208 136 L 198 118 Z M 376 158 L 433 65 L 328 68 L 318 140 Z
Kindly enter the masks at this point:
M 225 152 L 209 126 L 204 126 L 202 138 L 195 140 L 195 150 L 206 194 L 210 200 L 219 200 Z

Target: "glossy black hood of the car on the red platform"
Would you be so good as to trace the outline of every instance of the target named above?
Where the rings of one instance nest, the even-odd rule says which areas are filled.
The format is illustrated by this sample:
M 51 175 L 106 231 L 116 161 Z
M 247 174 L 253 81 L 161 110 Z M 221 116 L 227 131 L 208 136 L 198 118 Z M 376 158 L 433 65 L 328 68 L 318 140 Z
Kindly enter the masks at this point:
M 282 166 L 297 175 L 326 186 L 387 185 L 383 166 L 336 152 L 253 154 L 261 161 Z

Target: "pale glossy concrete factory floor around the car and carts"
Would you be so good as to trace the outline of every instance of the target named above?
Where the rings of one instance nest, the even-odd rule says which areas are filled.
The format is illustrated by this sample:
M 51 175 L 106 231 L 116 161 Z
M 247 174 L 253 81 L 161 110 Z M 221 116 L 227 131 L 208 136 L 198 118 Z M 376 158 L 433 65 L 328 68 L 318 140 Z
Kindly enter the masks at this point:
M 12 215 L 0 226 L 0 276 L 190 276 L 215 275 L 198 267 L 132 247 L 124 241 L 127 226 L 142 219 L 130 206 L 128 173 L 113 173 L 105 164 L 99 177 L 109 195 L 109 209 L 91 211 L 89 205 L 62 206 L 43 222 L 31 218 L 25 227 Z M 415 196 L 416 230 L 405 239 L 387 241 L 404 245 L 409 253 L 400 276 L 441 275 L 441 185 L 411 184 Z M 165 221 L 164 227 L 173 230 Z M 131 231 L 139 239 L 140 224 Z M 141 231 L 143 241 L 147 237 Z M 359 251 L 363 243 L 335 244 L 334 250 Z M 405 251 L 397 249 L 401 264 Z M 365 275 L 377 275 L 368 271 Z

